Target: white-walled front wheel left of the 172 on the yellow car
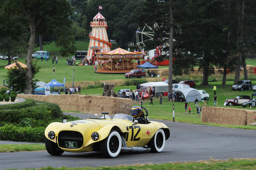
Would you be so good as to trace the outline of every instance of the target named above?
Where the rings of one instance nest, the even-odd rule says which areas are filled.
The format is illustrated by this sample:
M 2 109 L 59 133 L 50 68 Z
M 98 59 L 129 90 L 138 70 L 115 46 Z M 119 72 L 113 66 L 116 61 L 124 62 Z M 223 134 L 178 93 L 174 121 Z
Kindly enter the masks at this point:
M 112 130 L 110 131 L 109 136 L 101 142 L 100 152 L 102 156 L 106 158 L 113 158 L 119 155 L 121 146 L 120 134 L 117 131 Z

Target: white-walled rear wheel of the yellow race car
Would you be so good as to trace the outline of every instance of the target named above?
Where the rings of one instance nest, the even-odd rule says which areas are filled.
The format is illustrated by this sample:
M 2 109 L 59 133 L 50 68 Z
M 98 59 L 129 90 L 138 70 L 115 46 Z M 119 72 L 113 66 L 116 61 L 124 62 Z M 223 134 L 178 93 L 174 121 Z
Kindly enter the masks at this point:
M 148 143 L 148 147 L 151 148 L 150 152 L 157 153 L 162 152 L 165 145 L 165 134 L 163 129 L 158 129 L 156 131 L 156 134 L 153 136 L 153 138 Z

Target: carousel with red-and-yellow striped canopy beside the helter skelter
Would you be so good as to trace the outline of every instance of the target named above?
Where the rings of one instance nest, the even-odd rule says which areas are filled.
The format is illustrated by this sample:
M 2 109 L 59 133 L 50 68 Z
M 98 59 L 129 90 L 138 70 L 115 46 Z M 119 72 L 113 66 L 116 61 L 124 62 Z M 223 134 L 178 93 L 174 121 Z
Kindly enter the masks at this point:
M 130 52 L 117 48 L 106 53 L 96 53 L 97 65 L 95 72 L 98 73 L 126 73 L 136 69 L 137 60 L 141 59 L 141 52 Z

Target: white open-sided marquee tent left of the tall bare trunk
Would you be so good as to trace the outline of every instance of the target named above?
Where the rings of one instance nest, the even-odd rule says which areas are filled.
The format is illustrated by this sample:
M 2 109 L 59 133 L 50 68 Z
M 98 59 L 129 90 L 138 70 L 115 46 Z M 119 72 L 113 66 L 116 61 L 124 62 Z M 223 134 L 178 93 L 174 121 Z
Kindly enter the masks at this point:
M 159 96 L 160 93 L 162 93 L 165 96 L 167 96 L 167 94 L 168 94 L 168 84 L 164 83 L 162 81 L 143 83 L 143 84 L 141 84 L 141 86 L 154 87 L 156 96 Z

